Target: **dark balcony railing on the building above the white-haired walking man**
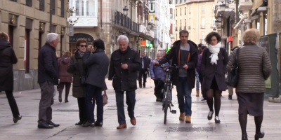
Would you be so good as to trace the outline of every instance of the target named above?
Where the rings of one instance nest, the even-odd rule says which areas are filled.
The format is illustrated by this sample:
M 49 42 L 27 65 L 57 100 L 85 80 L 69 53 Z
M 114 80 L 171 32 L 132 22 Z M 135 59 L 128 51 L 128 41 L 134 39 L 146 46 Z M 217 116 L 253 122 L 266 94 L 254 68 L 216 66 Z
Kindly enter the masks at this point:
M 131 18 L 125 16 L 119 11 L 114 11 L 114 23 L 116 25 L 121 25 L 122 27 L 126 27 L 127 29 L 131 29 L 132 31 L 140 32 L 140 25 L 138 23 L 133 22 Z

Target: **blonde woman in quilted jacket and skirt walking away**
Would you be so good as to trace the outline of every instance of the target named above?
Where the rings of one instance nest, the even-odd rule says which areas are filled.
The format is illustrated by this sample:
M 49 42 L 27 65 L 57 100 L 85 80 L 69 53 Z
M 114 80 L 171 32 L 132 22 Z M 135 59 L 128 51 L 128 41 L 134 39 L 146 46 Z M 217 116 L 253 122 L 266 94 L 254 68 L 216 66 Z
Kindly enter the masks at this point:
M 236 94 L 239 104 L 239 123 L 242 131 L 242 139 L 247 138 L 247 115 L 254 116 L 256 124 L 255 139 L 263 138 L 261 123 L 263 122 L 263 100 L 266 92 L 265 80 L 272 71 L 270 58 L 265 48 L 256 45 L 260 38 L 259 30 L 247 29 L 242 36 L 244 45 L 235 49 L 230 55 L 227 70 L 230 72 L 239 51 L 239 80 L 237 82 Z M 249 55 L 251 54 L 251 55 Z

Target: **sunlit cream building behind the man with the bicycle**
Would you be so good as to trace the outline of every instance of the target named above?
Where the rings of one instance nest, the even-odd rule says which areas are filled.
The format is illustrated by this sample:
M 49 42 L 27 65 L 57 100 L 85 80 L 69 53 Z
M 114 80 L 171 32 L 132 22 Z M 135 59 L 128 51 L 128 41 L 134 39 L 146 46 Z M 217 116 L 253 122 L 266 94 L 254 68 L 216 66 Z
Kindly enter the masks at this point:
M 206 45 L 204 38 L 216 27 L 214 0 L 176 0 L 175 20 L 176 40 L 185 29 L 190 33 L 188 39 Z

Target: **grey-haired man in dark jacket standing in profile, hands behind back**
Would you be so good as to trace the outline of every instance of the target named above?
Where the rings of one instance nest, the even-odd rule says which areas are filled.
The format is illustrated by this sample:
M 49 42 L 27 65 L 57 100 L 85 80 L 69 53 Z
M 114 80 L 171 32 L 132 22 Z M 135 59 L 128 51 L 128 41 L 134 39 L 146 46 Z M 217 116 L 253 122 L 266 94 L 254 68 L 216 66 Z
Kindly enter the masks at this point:
M 41 88 L 39 103 L 38 128 L 53 128 L 60 125 L 51 121 L 54 85 L 58 85 L 58 59 L 55 57 L 55 47 L 58 45 L 58 34 L 46 35 L 46 43 L 38 55 L 38 83 Z

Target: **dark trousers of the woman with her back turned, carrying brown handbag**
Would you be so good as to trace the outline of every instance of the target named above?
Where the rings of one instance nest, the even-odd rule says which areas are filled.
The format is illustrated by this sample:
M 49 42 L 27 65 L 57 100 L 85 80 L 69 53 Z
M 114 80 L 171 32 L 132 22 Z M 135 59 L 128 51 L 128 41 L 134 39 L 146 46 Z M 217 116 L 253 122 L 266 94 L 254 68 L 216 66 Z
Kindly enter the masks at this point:
M 97 104 L 97 122 L 103 123 L 103 95 L 102 87 L 97 87 L 95 85 L 87 85 L 86 87 L 86 109 L 87 118 L 89 123 L 95 123 L 95 118 L 93 118 L 93 104 L 95 104 L 94 98 L 96 97 Z

